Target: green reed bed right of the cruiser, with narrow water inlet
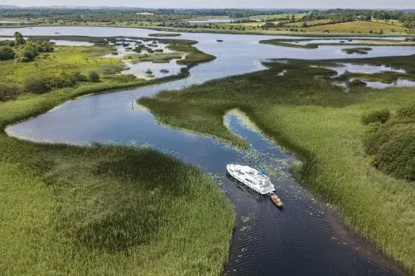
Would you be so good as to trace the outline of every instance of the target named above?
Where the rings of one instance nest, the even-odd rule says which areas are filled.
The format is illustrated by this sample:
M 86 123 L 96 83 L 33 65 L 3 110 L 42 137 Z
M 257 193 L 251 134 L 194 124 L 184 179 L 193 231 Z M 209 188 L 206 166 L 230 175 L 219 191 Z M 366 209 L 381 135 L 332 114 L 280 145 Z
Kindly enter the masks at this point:
M 412 71 L 414 61 L 414 56 L 356 60 Z M 302 159 L 302 165 L 293 168 L 299 181 L 339 206 L 351 228 L 414 273 L 414 184 L 371 166 L 360 121 L 365 112 L 383 108 L 395 112 L 414 101 L 414 88 L 359 87 L 345 93 L 329 79 L 335 72 L 310 65 L 329 66 L 332 61 L 268 63 L 270 70 L 160 92 L 140 103 L 165 124 L 243 146 L 223 126 L 225 112 L 239 108 Z M 279 75 L 283 70 L 285 75 Z

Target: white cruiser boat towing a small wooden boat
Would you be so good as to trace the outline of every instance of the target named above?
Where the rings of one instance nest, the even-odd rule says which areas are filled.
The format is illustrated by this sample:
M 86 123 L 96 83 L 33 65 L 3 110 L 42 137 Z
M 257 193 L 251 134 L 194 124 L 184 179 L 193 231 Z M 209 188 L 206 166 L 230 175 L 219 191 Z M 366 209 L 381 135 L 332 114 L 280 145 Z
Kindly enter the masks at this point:
M 275 191 L 275 187 L 271 183 L 270 178 L 261 170 L 234 164 L 228 164 L 226 170 L 234 179 L 237 179 L 242 182 L 242 184 L 255 190 L 255 192 L 260 193 L 261 195 L 266 195 Z

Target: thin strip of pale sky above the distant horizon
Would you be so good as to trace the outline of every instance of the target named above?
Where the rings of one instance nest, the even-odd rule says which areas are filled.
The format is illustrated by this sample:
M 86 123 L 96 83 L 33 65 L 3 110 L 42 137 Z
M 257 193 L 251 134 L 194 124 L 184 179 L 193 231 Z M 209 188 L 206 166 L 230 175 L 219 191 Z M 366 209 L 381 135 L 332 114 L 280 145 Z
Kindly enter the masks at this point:
M 0 0 L 14 6 L 127 6 L 140 8 L 415 8 L 414 0 Z

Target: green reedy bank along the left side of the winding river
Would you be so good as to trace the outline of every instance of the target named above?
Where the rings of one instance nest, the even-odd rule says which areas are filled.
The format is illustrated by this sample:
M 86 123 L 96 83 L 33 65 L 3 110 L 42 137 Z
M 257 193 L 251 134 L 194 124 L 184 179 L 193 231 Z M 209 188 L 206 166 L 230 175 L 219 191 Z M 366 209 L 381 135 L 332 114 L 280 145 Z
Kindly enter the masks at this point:
M 157 82 L 125 81 L 114 73 L 118 59 L 100 58 L 108 52 L 59 46 L 33 63 L 0 62 L 8 84 L 60 70 L 101 75 L 0 102 L 0 274 L 220 275 L 234 211 L 201 170 L 149 148 L 42 145 L 3 133 L 67 99 Z

